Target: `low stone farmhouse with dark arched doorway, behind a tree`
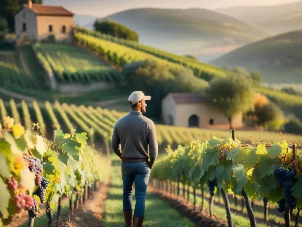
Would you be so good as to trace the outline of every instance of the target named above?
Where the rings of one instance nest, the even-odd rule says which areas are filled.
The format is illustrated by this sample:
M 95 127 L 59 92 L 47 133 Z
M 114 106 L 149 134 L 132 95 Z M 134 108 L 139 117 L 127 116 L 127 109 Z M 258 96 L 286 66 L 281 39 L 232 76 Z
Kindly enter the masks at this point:
M 243 127 L 243 114 L 232 120 L 234 128 Z M 164 124 L 180 127 L 229 129 L 227 118 L 217 113 L 200 93 L 170 93 L 162 99 Z

